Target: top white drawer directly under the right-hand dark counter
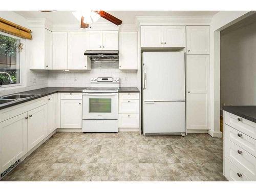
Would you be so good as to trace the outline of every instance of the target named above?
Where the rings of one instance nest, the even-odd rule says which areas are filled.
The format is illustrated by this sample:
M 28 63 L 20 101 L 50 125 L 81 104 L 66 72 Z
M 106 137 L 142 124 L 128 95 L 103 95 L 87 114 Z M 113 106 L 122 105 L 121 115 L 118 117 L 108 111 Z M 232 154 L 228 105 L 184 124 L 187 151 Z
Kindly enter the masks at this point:
M 225 112 L 224 117 L 225 124 L 228 124 L 234 129 L 256 139 L 256 123 L 228 112 Z

